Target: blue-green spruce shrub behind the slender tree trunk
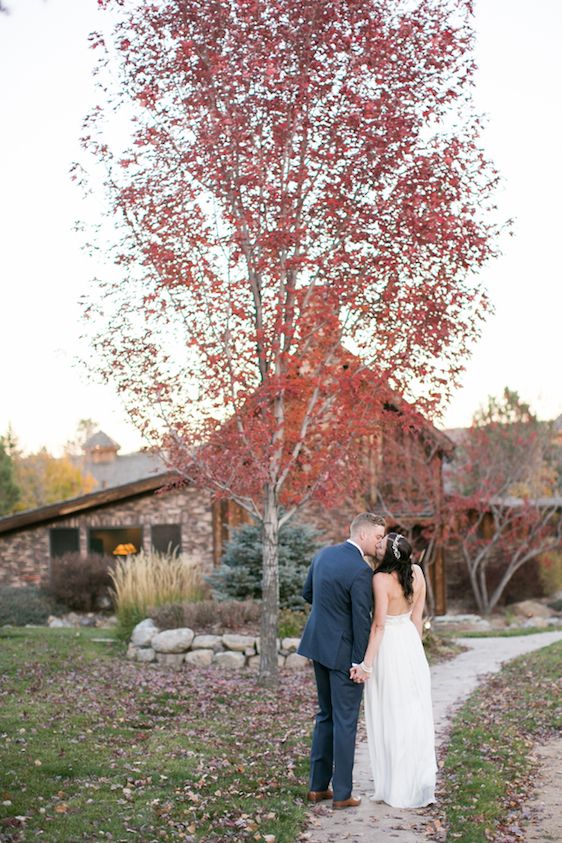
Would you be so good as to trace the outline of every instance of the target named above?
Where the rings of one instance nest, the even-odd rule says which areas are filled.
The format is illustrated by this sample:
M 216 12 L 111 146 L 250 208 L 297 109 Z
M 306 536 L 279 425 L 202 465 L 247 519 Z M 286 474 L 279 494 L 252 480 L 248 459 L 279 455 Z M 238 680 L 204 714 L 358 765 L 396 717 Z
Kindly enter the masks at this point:
M 279 532 L 279 605 L 303 609 L 303 583 L 312 556 L 318 549 L 317 534 L 299 524 L 284 525 Z M 261 600 L 262 534 L 254 524 L 234 531 L 226 546 L 222 565 L 207 581 L 216 600 Z

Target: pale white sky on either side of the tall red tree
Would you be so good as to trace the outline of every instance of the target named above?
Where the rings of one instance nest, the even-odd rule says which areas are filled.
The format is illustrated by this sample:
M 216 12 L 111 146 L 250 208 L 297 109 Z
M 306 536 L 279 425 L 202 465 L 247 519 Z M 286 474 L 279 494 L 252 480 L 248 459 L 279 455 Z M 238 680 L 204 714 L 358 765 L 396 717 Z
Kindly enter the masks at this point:
M 76 364 L 79 296 L 95 269 L 72 227 L 84 216 L 68 171 L 93 101 L 88 33 L 97 0 L 6 0 L 0 15 L 0 434 L 60 453 L 81 418 L 142 443 L 110 386 Z M 562 0 L 477 0 L 477 105 L 515 219 L 484 270 L 490 317 L 445 427 L 470 424 L 505 385 L 541 418 L 562 413 Z

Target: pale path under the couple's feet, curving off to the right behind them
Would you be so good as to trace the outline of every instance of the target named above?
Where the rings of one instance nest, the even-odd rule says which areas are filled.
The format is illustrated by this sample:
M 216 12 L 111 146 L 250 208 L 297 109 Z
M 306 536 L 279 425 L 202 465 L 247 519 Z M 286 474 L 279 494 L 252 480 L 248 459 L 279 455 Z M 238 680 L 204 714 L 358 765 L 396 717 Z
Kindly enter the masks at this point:
M 474 690 L 484 674 L 496 672 L 503 662 L 516 656 L 561 641 L 562 632 L 457 640 L 469 649 L 431 669 L 437 746 L 444 739 L 455 708 Z M 312 808 L 305 839 L 310 843 L 419 843 L 425 824 L 423 809 L 410 811 L 371 802 L 371 790 L 367 744 L 361 741 L 357 745 L 354 770 L 354 793 L 362 797 L 361 805 L 344 811 L 332 811 L 329 803 Z

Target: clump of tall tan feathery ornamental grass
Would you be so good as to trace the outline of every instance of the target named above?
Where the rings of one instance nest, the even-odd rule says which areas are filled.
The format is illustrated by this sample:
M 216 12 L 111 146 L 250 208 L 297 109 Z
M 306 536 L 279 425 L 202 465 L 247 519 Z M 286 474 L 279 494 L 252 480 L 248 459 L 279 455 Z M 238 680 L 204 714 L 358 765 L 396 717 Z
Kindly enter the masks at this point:
M 185 554 L 145 553 L 119 559 L 111 572 L 119 634 L 128 638 L 133 627 L 159 606 L 206 596 L 201 570 Z

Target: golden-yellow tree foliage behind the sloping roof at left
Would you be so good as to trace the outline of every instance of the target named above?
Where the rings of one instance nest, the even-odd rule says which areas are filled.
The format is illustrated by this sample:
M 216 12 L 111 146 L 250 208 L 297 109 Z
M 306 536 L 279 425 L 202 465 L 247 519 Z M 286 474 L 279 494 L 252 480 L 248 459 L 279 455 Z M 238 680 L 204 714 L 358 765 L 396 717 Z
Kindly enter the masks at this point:
M 26 456 L 18 453 L 14 464 L 21 490 L 16 512 L 85 495 L 95 486 L 94 478 L 84 475 L 68 457 L 53 457 L 46 448 Z

